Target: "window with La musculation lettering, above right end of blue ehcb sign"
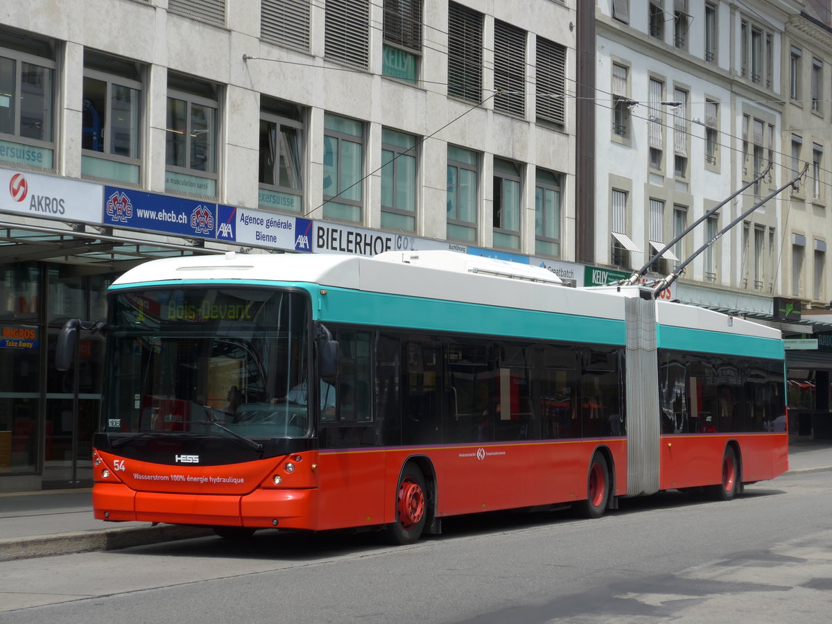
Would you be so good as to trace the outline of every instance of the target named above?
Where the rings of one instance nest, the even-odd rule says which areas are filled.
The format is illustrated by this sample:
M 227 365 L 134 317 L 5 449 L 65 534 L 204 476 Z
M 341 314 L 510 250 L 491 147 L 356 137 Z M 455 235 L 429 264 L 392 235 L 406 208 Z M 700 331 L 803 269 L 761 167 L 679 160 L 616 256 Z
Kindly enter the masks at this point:
M 169 72 L 166 191 L 216 196 L 217 88 Z

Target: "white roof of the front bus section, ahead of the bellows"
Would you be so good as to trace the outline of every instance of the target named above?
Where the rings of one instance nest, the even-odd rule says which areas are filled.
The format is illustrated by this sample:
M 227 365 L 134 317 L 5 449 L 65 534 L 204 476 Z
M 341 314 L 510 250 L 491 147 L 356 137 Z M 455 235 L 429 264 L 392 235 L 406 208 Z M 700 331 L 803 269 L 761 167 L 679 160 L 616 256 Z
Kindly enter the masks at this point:
M 152 260 L 116 285 L 161 280 L 308 282 L 392 295 L 623 319 L 621 297 L 567 288 L 551 271 L 456 251 L 388 251 L 372 258 L 325 254 L 235 254 Z M 617 302 L 617 303 L 614 303 Z

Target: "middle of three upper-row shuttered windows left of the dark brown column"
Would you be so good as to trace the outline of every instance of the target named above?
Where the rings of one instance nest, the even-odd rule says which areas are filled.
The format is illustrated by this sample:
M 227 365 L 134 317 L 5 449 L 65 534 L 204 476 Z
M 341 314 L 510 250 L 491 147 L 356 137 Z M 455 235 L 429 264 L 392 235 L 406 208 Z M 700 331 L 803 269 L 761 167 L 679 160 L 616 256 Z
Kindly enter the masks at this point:
M 494 20 L 494 110 L 526 114 L 526 31 Z

